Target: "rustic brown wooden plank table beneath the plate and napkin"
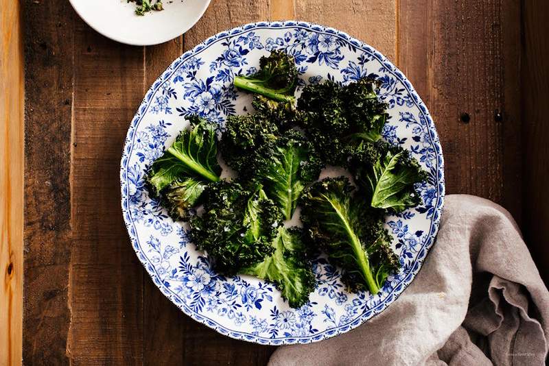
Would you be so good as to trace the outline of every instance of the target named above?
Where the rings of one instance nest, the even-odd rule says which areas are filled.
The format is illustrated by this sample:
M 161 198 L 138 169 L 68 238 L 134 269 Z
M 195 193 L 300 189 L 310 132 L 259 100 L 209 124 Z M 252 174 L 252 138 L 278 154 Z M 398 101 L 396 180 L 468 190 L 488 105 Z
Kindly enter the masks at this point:
M 0 2 L 2 49 L 11 49 L 2 60 L 16 64 L 19 8 Z M 447 193 L 480 195 L 510 210 L 547 279 L 549 131 L 542 117 L 549 112 L 549 12 L 543 3 L 213 0 L 184 36 L 130 47 L 94 32 L 67 1 L 23 1 L 23 341 L 17 308 L 23 192 L 12 188 L 22 186 L 18 94 L 5 98 L 15 107 L 0 140 L 8 145 L 0 178 L 11 197 L 2 202 L 12 202 L 2 204 L 1 222 L 14 230 L 3 234 L 0 252 L 6 284 L 0 310 L 9 314 L 0 318 L 8 326 L 0 354 L 6 350 L 10 363 L 22 352 L 28 365 L 266 364 L 274 347 L 217 334 L 183 315 L 152 284 L 128 242 L 118 178 L 126 129 L 159 73 L 208 36 L 253 21 L 330 25 L 393 60 L 434 117 Z M 22 92 L 20 72 L 4 68 L 2 75 L 8 76 L 0 86 L 11 83 L 12 92 Z

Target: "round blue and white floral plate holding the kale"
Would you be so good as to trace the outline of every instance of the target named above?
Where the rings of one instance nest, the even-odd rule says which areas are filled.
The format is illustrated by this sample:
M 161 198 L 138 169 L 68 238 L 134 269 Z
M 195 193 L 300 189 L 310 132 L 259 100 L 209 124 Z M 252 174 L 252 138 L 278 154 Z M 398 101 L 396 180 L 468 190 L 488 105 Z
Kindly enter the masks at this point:
M 188 227 L 150 199 L 143 178 L 198 113 L 223 123 L 251 110 L 233 76 L 254 73 L 259 58 L 284 49 L 296 58 L 300 88 L 379 77 L 389 105 L 384 138 L 410 150 L 428 171 L 423 205 L 386 218 L 401 270 L 382 291 L 348 293 L 340 271 L 318 258 L 310 303 L 292 309 L 272 284 L 249 276 L 224 277 L 189 243 Z M 298 90 L 299 92 L 299 90 Z M 132 246 L 152 280 L 183 313 L 229 337 L 261 344 L 310 343 L 347 332 L 381 313 L 417 275 L 439 228 L 444 197 L 443 156 L 425 105 L 406 77 L 381 53 L 343 32 L 303 22 L 253 23 L 221 32 L 185 52 L 152 85 L 128 130 L 120 169 L 124 221 Z

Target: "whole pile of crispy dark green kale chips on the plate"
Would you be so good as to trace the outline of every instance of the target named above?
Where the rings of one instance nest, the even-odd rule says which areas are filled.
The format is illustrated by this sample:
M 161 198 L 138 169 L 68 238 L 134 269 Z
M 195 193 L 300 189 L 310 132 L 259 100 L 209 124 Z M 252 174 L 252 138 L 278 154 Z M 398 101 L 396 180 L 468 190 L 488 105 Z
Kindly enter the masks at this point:
M 377 293 L 399 269 L 384 215 L 419 204 L 414 186 L 425 180 L 408 151 L 381 139 L 387 106 L 377 80 L 308 85 L 296 101 L 297 81 L 291 56 L 261 58 L 259 72 L 234 81 L 255 93 L 255 112 L 227 117 L 223 129 L 192 117 L 147 178 L 151 197 L 189 221 L 217 271 L 272 282 L 294 308 L 314 290 L 319 252 L 349 289 Z M 220 178 L 218 155 L 237 178 Z M 327 165 L 348 169 L 353 183 L 318 181 Z M 288 228 L 298 206 L 303 228 Z

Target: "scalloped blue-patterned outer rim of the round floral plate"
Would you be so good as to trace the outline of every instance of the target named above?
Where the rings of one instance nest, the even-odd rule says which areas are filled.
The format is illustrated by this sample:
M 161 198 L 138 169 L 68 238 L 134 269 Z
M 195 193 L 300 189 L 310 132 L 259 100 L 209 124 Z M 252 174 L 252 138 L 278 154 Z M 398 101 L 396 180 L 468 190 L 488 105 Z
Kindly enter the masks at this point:
M 311 31 L 311 32 L 324 32 L 327 34 L 331 34 L 334 36 L 338 36 L 345 40 L 346 42 L 351 43 L 351 45 L 357 47 L 357 49 L 367 49 L 367 52 L 372 53 L 375 58 L 381 63 L 381 64 L 390 64 L 392 69 L 389 69 L 389 73 L 393 73 L 395 77 L 404 85 L 404 87 L 408 90 L 408 93 L 412 95 L 414 98 L 414 104 L 419 108 L 419 112 L 423 114 L 423 117 L 425 117 L 426 125 L 428 125 L 428 132 L 430 139 L 432 141 L 433 147 L 436 149 L 436 166 L 437 166 L 437 173 L 439 175 L 438 180 L 436 181 L 436 189 L 439 191 L 439 195 L 437 196 L 436 204 L 434 204 L 435 211 L 438 215 L 433 215 L 433 217 L 436 216 L 436 218 L 433 218 L 431 220 L 430 224 L 430 233 L 425 240 L 425 243 L 421 246 L 419 251 L 425 251 L 425 254 L 422 258 L 418 258 L 416 262 L 414 263 L 414 268 L 408 273 L 405 280 L 407 283 L 401 282 L 402 289 L 398 293 L 394 293 L 395 289 L 391 293 L 385 297 L 384 301 L 377 305 L 375 308 L 371 310 L 370 315 L 364 315 L 362 313 L 358 317 L 354 318 L 353 320 L 349 321 L 349 323 L 344 324 L 342 326 L 338 326 L 336 328 L 329 328 L 326 330 L 323 330 L 322 332 L 318 332 L 316 334 L 312 334 L 306 337 L 277 337 L 277 338 L 267 338 L 267 337 L 260 337 L 256 336 L 254 334 L 246 333 L 246 332 L 239 332 L 236 330 L 231 330 L 229 328 L 226 328 L 219 324 L 217 321 L 210 319 L 209 317 L 205 317 L 204 315 L 200 315 L 193 310 L 188 309 L 188 306 L 184 302 L 178 301 L 174 299 L 174 294 L 161 282 L 159 275 L 156 273 L 156 270 L 152 265 L 150 265 L 150 261 L 145 261 L 141 258 L 139 255 L 141 252 L 141 245 L 139 243 L 139 239 L 132 234 L 132 221 L 128 222 L 126 220 L 128 210 L 129 208 L 126 208 L 124 205 L 125 202 L 128 200 L 128 194 L 124 192 L 124 189 L 127 188 L 125 174 L 126 174 L 126 167 L 124 166 L 124 160 L 127 157 L 129 161 L 130 153 L 126 156 L 126 149 L 131 143 L 130 138 L 130 132 L 132 130 L 137 129 L 139 126 L 139 122 L 146 114 L 146 111 L 148 110 L 148 106 L 152 100 L 152 95 L 156 93 L 156 91 L 161 87 L 161 85 L 165 84 L 165 82 L 169 81 L 172 74 L 176 71 L 177 66 L 185 62 L 185 60 L 196 56 L 197 53 L 200 53 L 201 51 L 204 51 L 207 49 L 210 45 L 213 45 L 218 40 L 221 40 L 223 38 L 233 37 L 237 36 L 238 34 L 242 34 L 245 32 L 249 32 L 253 29 L 284 29 L 288 27 L 304 27 L 305 29 Z M 393 62 L 388 60 L 382 53 L 377 51 L 374 47 L 371 47 L 370 45 L 366 44 L 366 42 L 362 42 L 352 36 L 349 36 L 346 32 L 342 32 L 338 29 L 335 29 L 333 27 L 328 27 L 325 25 L 318 25 L 316 23 L 310 23 L 305 21 L 262 21 L 262 22 L 255 22 L 255 23 L 247 23 L 245 25 L 240 25 L 237 27 L 233 27 L 231 29 L 224 30 L 222 32 L 219 32 L 218 34 L 215 34 L 206 40 L 200 42 L 198 45 L 196 45 L 193 49 L 190 49 L 189 51 L 186 51 L 181 56 L 176 58 L 170 66 L 161 73 L 161 75 L 152 83 L 148 91 L 145 93 L 145 96 L 143 97 L 143 100 L 139 104 L 139 108 L 137 108 L 137 112 L 135 116 L 133 117 L 132 121 L 130 122 L 130 126 L 128 127 L 128 132 L 126 134 L 126 138 L 124 140 L 124 147 L 122 149 L 122 156 L 121 156 L 121 167 L 120 167 L 120 184 L 121 184 L 121 208 L 122 208 L 122 214 L 124 217 L 124 224 L 126 226 L 126 230 L 128 231 L 128 236 L 130 236 L 130 241 L 132 244 L 132 247 L 134 248 L 137 257 L 139 258 L 139 261 L 145 267 L 145 271 L 148 272 L 149 276 L 152 278 L 154 284 L 159 287 L 159 290 L 165 295 L 170 301 L 176 305 L 180 310 L 185 313 L 185 315 L 188 315 L 191 317 L 191 319 L 194 319 L 195 321 L 198 321 L 201 324 L 204 324 L 205 326 L 212 328 L 216 332 L 219 332 L 220 334 L 224 334 L 228 337 L 231 337 L 233 339 L 239 339 L 243 341 L 248 341 L 252 343 L 259 343 L 263 345 L 290 345 L 290 344 L 305 344 L 305 343 L 314 343 L 316 341 L 322 341 L 324 339 L 329 339 L 331 337 L 335 337 L 338 334 L 342 334 L 344 332 L 348 332 L 349 330 L 352 330 L 361 324 L 364 324 L 369 319 L 373 319 L 379 313 L 382 313 L 390 304 L 393 304 L 397 300 L 397 298 L 404 293 L 404 291 L 408 288 L 408 286 L 412 283 L 414 278 L 417 276 L 419 271 L 421 270 L 421 267 L 423 267 L 423 263 L 425 262 L 425 259 L 427 258 L 430 249 L 432 249 L 432 246 L 434 245 L 436 241 L 436 234 L 439 230 L 439 226 L 441 223 L 442 215 L 443 215 L 443 206 L 444 206 L 444 199 L 445 199 L 445 178 L 444 178 L 444 157 L 443 157 L 443 151 L 440 143 L 440 139 L 438 136 L 438 133 L 436 132 L 436 128 L 434 125 L 434 121 L 425 106 L 425 103 L 423 103 L 423 100 L 418 95 L 408 78 L 402 73 Z M 135 234 L 137 235 L 137 233 Z M 145 258 L 148 258 L 145 254 L 143 254 Z M 148 267 L 148 266 L 151 266 Z M 391 300 L 386 300 L 388 297 L 392 297 Z

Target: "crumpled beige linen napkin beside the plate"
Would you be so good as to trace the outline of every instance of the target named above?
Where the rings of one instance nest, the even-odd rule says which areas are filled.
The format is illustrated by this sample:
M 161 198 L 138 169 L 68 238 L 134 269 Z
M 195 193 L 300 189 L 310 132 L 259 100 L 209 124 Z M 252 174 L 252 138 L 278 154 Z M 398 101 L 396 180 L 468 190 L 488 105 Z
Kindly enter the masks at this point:
M 269 365 L 544 365 L 548 334 L 549 293 L 509 212 L 449 195 L 434 247 L 393 304 L 338 337 L 279 347 Z

